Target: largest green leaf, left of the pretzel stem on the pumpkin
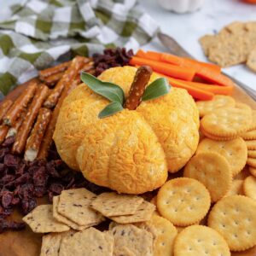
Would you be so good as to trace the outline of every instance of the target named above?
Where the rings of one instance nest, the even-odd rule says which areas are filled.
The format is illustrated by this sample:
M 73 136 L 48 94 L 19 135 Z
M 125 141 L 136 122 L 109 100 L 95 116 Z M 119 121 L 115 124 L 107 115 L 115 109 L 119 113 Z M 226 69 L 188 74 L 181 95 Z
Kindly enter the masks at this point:
M 110 102 L 119 102 L 123 105 L 125 101 L 125 93 L 119 85 L 102 82 L 96 77 L 92 76 L 90 73 L 82 73 L 81 80 L 86 84 L 91 90 L 97 94 L 107 98 Z

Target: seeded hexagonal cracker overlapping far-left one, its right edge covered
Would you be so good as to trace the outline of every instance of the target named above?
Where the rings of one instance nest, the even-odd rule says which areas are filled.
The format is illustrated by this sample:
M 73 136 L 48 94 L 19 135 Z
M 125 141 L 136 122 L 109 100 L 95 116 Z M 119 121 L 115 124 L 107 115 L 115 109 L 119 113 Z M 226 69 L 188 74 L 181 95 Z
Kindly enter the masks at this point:
M 102 222 L 102 214 L 90 207 L 96 195 L 87 189 L 63 190 L 60 195 L 58 212 L 81 226 L 92 226 Z

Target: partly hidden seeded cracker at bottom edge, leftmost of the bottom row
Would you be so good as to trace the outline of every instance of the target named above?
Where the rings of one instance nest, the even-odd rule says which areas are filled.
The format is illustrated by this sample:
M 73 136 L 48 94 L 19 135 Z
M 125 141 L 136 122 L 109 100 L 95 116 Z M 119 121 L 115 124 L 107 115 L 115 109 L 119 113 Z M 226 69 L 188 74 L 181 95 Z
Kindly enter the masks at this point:
M 43 236 L 40 256 L 59 256 L 62 239 L 73 236 L 74 233 L 73 230 L 69 230 Z

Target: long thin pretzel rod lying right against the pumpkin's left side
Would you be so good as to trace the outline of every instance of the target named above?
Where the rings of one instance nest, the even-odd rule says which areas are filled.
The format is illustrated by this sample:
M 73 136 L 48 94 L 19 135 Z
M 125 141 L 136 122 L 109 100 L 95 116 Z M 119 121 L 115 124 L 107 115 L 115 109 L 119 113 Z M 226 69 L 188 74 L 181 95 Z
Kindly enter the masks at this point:
M 75 79 L 73 81 L 73 83 L 68 84 L 67 87 L 65 87 L 65 89 L 62 91 L 61 93 L 61 97 L 55 107 L 55 109 L 53 110 L 51 119 L 49 120 L 49 125 L 46 128 L 45 134 L 44 134 L 44 139 L 43 142 L 41 143 L 40 149 L 39 149 L 39 153 L 38 153 L 38 159 L 44 159 L 46 160 L 48 157 L 48 153 L 49 153 L 49 148 L 51 146 L 52 143 L 52 137 L 55 131 L 55 125 L 58 119 L 58 115 L 60 113 L 60 109 L 61 109 L 61 104 L 64 101 L 64 99 L 66 98 L 66 96 L 74 89 L 76 88 L 78 85 L 80 84 L 80 78 L 79 79 Z

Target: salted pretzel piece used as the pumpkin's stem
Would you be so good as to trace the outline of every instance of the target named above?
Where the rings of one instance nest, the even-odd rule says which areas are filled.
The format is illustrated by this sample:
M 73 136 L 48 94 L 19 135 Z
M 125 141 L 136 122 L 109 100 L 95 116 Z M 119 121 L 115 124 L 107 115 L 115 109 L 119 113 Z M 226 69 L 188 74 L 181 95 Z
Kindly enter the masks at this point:
M 142 66 L 137 69 L 137 73 L 131 84 L 129 96 L 125 102 L 125 108 L 134 110 L 142 102 L 142 96 L 151 74 L 152 69 L 148 66 Z

